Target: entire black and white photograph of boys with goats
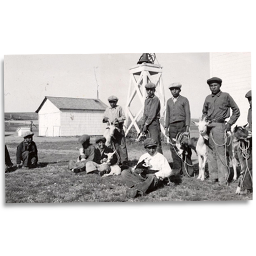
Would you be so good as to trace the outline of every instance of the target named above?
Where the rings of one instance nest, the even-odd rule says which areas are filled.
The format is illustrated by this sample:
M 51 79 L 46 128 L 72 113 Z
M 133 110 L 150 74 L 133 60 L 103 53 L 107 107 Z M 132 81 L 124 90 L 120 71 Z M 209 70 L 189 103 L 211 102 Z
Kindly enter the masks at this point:
M 9 51 L 5 202 L 252 201 L 252 52 Z

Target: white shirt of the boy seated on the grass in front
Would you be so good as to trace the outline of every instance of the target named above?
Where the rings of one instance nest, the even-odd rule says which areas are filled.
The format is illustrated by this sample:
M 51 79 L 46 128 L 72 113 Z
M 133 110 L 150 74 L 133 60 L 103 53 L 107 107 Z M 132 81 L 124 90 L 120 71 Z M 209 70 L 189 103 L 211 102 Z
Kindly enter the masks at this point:
M 142 155 L 138 163 L 140 163 L 144 159 L 147 159 L 147 161 L 150 162 L 150 165 L 151 165 L 150 169 L 159 170 L 159 172 L 155 173 L 158 179 L 167 178 L 172 173 L 172 168 L 170 168 L 170 165 L 167 159 L 159 152 L 156 152 L 154 156 L 151 156 L 148 153 Z

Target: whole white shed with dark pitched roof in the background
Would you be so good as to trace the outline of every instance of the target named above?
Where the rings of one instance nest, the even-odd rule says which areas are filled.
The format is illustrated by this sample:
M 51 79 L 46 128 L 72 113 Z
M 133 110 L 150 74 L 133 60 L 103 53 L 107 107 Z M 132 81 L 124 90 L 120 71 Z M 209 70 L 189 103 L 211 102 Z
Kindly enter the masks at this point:
M 107 105 L 99 99 L 45 97 L 36 110 L 39 136 L 102 135 Z

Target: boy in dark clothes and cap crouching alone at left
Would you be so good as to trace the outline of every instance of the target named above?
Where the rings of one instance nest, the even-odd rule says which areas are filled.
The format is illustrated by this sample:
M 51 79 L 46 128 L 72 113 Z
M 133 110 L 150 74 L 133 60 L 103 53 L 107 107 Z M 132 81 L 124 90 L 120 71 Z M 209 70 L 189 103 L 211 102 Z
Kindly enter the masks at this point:
M 23 136 L 24 141 L 17 146 L 17 168 L 36 168 L 37 166 L 37 147 L 33 141 L 33 135 L 34 134 L 32 132 L 26 132 Z

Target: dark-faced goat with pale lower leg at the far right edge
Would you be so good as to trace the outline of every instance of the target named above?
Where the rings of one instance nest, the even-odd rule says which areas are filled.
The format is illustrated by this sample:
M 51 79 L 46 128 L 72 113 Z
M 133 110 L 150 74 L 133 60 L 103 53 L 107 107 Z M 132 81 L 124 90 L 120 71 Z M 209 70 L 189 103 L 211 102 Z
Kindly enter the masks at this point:
M 241 193 L 242 187 L 242 179 L 244 178 L 246 168 L 248 168 L 246 163 L 246 152 L 243 152 L 241 149 L 241 143 L 247 144 L 246 140 L 252 137 L 252 132 L 245 129 L 245 126 L 236 126 L 231 134 L 232 136 L 232 146 L 233 146 L 233 153 L 234 157 L 240 163 L 241 166 L 241 176 L 239 177 L 238 187 L 236 190 L 236 194 Z M 249 170 L 248 170 L 249 171 Z

